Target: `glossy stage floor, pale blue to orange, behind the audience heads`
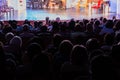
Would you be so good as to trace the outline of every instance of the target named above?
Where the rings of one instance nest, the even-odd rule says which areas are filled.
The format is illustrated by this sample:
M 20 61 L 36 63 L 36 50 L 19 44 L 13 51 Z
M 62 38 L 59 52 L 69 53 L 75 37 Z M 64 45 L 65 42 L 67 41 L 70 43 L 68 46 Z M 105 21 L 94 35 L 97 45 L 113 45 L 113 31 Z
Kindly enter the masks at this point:
M 83 18 L 99 18 L 99 17 L 112 18 L 116 16 L 116 13 L 106 13 L 103 14 L 102 11 L 88 10 L 84 8 L 80 9 L 26 9 L 22 11 L 15 11 L 14 15 L 4 14 L 0 17 L 0 20 L 45 20 L 45 17 L 50 17 L 51 20 L 55 20 L 56 17 L 60 17 L 61 20 L 69 20 L 74 18 L 76 20 L 81 20 Z M 118 16 L 119 18 L 119 16 Z

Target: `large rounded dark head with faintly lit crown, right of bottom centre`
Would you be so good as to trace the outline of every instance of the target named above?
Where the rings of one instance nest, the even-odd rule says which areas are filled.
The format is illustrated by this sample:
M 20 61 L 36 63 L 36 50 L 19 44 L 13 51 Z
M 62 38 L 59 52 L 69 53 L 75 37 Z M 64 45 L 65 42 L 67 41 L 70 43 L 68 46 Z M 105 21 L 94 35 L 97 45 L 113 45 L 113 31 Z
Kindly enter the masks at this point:
M 70 55 L 73 65 L 84 65 L 88 63 L 87 49 L 83 45 L 75 45 Z

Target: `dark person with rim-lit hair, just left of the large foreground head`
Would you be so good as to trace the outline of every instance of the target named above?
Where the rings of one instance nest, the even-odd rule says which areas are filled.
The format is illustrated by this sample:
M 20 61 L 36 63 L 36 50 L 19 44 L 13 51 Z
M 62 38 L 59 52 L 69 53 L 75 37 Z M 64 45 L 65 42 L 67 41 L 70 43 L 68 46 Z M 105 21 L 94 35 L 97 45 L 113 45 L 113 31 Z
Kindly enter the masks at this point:
M 73 47 L 73 44 L 71 43 L 71 41 L 63 40 L 59 45 L 58 52 L 54 54 L 53 70 L 56 77 L 59 76 L 61 65 L 64 62 L 70 60 L 69 56 L 70 56 L 72 47 Z

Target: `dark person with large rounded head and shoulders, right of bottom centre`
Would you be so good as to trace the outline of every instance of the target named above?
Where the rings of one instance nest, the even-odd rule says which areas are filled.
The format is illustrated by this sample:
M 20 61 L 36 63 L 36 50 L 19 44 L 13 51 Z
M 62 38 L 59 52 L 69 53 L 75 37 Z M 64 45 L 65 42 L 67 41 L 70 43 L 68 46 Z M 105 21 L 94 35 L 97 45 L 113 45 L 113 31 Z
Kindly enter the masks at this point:
M 83 45 L 75 45 L 70 54 L 70 61 L 61 67 L 61 80 L 90 80 L 87 49 Z

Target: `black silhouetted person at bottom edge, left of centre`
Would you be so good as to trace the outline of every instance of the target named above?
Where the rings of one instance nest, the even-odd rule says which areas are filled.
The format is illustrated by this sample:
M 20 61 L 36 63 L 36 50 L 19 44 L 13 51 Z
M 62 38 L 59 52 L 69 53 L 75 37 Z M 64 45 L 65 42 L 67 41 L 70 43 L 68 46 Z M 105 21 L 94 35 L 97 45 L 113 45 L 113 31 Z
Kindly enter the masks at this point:
M 33 80 L 52 80 L 50 60 L 45 53 L 36 55 L 32 60 Z

